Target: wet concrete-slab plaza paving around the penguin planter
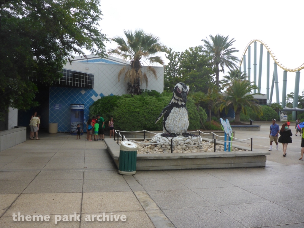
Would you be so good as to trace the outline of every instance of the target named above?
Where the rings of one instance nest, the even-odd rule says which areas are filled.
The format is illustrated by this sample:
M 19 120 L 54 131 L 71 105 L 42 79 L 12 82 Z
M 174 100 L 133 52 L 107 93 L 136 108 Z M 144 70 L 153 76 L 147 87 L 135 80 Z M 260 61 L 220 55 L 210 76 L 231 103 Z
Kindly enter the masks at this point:
M 253 137 L 254 150 L 268 151 L 268 136 L 269 126 L 235 133 Z M 292 137 L 285 158 L 282 144 L 271 151 L 265 168 L 137 171 L 133 176 L 118 174 L 103 141 L 76 140 L 66 133 L 40 133 L 40 138 L 0 152 L 1 228 L 304 227 L 299 136 Z M 18 212 L 49 215 L 50 221 L 13 221 Z M 85 221 L 103 212 L 126 215 L 126 221 Z M 55 215 L 74 213 L 81 221 L 55 224 Z

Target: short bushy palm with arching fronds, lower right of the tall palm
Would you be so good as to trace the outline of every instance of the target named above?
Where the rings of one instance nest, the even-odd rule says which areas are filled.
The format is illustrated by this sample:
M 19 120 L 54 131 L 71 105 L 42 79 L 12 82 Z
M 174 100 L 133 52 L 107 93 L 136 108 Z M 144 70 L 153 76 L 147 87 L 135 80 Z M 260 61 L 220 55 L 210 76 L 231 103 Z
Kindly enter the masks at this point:
M 257 86 L 250 84 L 250 81 L 231 81 L 230 85 L 226 88 L 228 96 L 225 97 L 225 101 L 220 105 L 219 110 L 222 111 L 225 109 L 226 113 L 228 113 L 228 110 L 233 108 L 235 122 L 240 122 L 241 111 L 247 115 L 246 106 L 250 107 L 253 112 L 261 116 L 263 114 L 261 106 L 258 105 L 257 100 L 254 99 L 254 94 L 250 94 L 252 89 L 257 89 Z

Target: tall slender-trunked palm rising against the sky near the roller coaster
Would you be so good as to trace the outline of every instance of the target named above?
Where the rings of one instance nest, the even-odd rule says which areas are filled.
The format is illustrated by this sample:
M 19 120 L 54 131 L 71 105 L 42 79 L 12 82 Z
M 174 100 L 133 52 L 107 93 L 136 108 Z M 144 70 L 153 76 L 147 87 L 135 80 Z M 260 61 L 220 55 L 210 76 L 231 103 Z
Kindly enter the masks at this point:
M 219 71 L 225 73 L 224 67 L 228 67 L 230 71 L 237 67 L 235 62 L 239 59 L 232 55 L 232 53 L 238 52 L 239 50 L 231 47 L 235 41 L 234 38 L 229 40 L 229 36 L 219 34 L 216 34 L 216 36 L 209 35 L 209 37 L 211 41 L 209 41 L 207 37 L 206 39 L 202 39 L 204 42 L 203 47 L 205 48 L 204 51 L 212 56 L 212 62 L 216 68 L 216 86 L 219 87 Z

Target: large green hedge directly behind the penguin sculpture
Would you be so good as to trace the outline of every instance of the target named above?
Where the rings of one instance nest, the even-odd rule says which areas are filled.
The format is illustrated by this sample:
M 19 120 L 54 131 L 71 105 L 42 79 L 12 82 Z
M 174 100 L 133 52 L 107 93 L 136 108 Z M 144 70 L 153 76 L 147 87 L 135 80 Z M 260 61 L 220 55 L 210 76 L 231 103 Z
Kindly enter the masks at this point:
M 107 96 L 98 99 L 90 107 L 90 116 L 101 114 L 107 123 L 113 117 L 115 128 L 125 131 L 163 130 L 162 119 L 155 120 L 171 100 L 172 93 L 160 94 L 156 91 L 145 91 L 143 95 Z M 200 129 L 206 122 L 207 114 L 202 107 L 197 110 L 194 101 L 187 101 L 189 127 L 188 130 Z

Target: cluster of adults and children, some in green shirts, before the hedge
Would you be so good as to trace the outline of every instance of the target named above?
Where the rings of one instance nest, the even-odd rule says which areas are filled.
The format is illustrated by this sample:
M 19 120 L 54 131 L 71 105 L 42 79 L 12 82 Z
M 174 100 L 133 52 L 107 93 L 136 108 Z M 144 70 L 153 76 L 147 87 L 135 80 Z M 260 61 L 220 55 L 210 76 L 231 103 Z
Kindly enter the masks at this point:
M 92 119 L 88 119 L 87 122 L 87 140 L 93 141 L 93 135 L 94 135 L 94 141 L 98 140 L 104 140 L 105 133 L 105 119 L 102 118 L 100 115 L 95 118 L 95 116 L 92 117 Z M 111 134 L 114 136 L 114 122 L 113 118 L 109 121 L 109 130 L 110 130 L 110 138 Z M 99 135 L 99 139 L 98 139 Z M 79 132 L 79 138 L 80 138 L 80 132 Z

